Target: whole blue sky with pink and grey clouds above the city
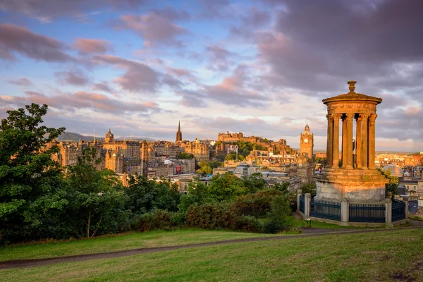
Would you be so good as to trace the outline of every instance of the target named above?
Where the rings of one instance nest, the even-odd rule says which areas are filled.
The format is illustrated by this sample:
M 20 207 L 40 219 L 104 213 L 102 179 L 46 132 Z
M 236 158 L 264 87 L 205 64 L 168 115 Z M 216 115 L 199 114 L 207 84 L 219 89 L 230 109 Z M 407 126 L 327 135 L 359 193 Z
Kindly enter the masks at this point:
M 381 97 L 376 150 L 423 149 L 423 1 L 0 0 L 0 118 L 35 102 L 83 135 L 326 149 L 326 106 Z

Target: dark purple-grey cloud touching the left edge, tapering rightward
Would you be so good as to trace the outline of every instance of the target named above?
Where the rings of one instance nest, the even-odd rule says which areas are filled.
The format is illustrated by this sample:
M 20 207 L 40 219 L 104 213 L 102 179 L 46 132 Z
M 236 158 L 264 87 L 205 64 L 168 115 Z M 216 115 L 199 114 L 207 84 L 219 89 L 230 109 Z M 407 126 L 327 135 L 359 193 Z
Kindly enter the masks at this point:
M 65 62 L 74 59 L 65 53 L 66 46 L 50 37 L 37 35 L 25 27 L 0 24 L 0 58 L 16 60 L 14 53 L 19 53 L 32 59 Z

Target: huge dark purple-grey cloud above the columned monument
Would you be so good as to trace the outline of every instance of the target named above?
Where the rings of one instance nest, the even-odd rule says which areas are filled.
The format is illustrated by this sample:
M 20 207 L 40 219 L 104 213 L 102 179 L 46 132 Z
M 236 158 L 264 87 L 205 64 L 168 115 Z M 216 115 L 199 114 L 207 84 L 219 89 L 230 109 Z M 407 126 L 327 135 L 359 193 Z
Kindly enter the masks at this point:
M 392 78 L 399 68 L 423 61 L 423 18 L 417 12 L 423 3 L 287 0 L 282 5 L 274 30 L 256 32 L 259 59 L 270 67 L 266 79 L 272 85 L 309 95 L 334 94 L 341 84 L 333 81 L 350 79 L 371 90 L 415 85 L 420 71 Z

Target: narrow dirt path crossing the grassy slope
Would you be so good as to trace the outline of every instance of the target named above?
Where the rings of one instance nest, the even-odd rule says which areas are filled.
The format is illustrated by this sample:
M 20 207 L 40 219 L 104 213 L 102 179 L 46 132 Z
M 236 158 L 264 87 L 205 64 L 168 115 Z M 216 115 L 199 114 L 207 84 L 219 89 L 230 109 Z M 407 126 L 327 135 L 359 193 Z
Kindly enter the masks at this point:
M 416 228 L 423 228 L 423 226 L 407 227 L 407 228 L 403 228 L 403 230 L 416 229 Z M 185 249 L 188 247 L 207 247 L 207 246 L 214 246 L 214 245 L 247 243 L 247 242 L 265 241 L 265 240 L 288 240 L 293 238 L 320 237 L 325 235 L 335 235 L 335 234 L 345 234 L 345 233 L 389 232 L 389 231 L 397 231 L 398 228 L 360 229 L 360 230 L 336 229 L 332 231 L 327 231 L 327 230 L 328 229 L 326 229 L 325 232 L 322 232 L 323 229 L 317 229 L 315 230 L 317 232 L 309 233 L 305 235 L 286 235 L 286 236 L 271 236 L 271 237 L 262 237 L 262 238 L 247 238 L 247 239 L 227 240 L 227 241 L 200 243 L 200 244 L 191 244 L 191 245 L 180 245 L 180 246 L 172 246 L 172 247 L 147 247 L 147 248 L 125 250 L 125 251 L 118 251 L 118 252 L 104 252 L 99 254 L 74 255 L 74 256 L 67 256 L 67 257 L 51 257 L 47 259 L 8 260 L 5 262 L 0 262 L 0 269 L 26 268 L 26 267 L 32 267 L 32 266 L 42 266 L 47 264 L 57 264 L 60 262 L 83 262 L 83 261 L 92 260 L 92 259 L 109 259 L 113 257 L 128 257 L 130 255 L 146 254 L 149 252 L 163 252 L 163 251 L 179 250 L 179 249 Z

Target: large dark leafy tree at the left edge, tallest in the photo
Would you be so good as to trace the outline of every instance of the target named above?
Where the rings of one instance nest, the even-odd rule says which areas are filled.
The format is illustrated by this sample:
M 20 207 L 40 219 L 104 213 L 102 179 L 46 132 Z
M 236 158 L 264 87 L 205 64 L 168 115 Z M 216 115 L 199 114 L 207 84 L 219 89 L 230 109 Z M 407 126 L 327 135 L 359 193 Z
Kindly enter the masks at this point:
M 65 128 L 40 125 L 46 104 L 6 111 L 0 125 L 0 243 L 1 233 L 13 226 L 30 223 L 30 206 L 40 197 L 54 194 L 61 184 L 61 168 L 51 159 L 57 147 L 44 149 Z M 38 204 L 41 204 L 38 202 Z M 43 209 L 59 207 L 61 199 L 44 201 Z M 25 213 L 25 211 L 27 211 Z

